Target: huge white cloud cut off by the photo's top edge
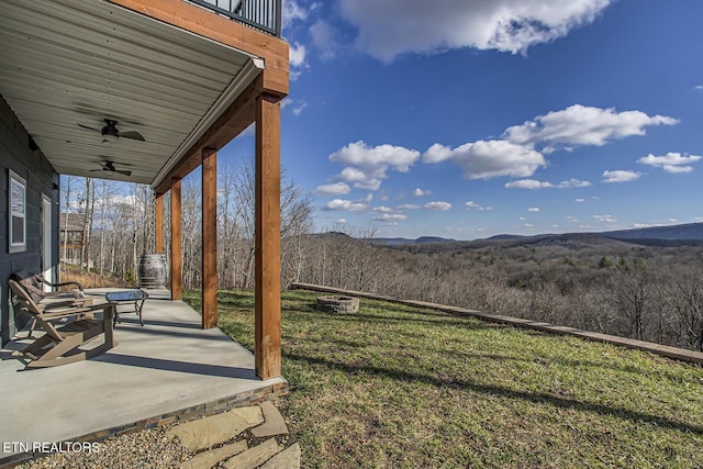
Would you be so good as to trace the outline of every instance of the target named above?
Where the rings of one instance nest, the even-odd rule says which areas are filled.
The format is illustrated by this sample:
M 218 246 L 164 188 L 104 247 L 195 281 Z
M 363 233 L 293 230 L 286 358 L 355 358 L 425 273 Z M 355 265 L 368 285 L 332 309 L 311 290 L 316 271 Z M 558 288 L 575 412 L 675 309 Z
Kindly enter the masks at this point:
M 391 62 L 401 54 L 473 47 L 525 53 L 593 22 L 611 0 L 341 0 L 356 45 Z

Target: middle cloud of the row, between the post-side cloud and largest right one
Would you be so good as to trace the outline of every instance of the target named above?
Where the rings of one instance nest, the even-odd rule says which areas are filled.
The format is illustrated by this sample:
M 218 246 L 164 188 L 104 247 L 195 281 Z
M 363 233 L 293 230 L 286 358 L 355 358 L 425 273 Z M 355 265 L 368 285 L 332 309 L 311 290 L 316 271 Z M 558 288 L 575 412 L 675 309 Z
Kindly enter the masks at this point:
M 464 177 L 468 179 L 527 177 L 547 166 L 538 152 L 506 141 L 478 141 L 454 149 L 436 143 L 425 152 L 422 159 L 424 163 L 449 160 L 460 166 Z

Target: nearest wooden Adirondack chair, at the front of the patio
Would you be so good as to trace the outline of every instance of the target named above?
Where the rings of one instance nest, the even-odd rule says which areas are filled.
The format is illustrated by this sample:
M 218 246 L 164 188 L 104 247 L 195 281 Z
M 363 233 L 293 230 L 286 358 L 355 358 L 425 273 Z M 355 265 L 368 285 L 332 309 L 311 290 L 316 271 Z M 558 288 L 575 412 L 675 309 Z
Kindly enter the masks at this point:
M 13 301 L 26 313 L 31 314 L 44 332 L 44 336 L 35 339 L 23 350 L 14 355 L 29 358 L 27 368 L 44 368 L 72 364 L 102 354 L 114 347 L 116 343 L 112 334 L 112 317 L 114 304 L 97 305 L 47 305 L 40 308 L 27 291 L 14 280 L 9 280 L 10 289 L 14 293 Z M 102 310 L 102 319 L 92 316 Z M 52 322 L 63 320 L 64 325 L 56 326 Z M 72 320 L 72 321 L 70 321 Z M 82 345 L 99 336 L 104 342 L 91 349 L 80 349 Z

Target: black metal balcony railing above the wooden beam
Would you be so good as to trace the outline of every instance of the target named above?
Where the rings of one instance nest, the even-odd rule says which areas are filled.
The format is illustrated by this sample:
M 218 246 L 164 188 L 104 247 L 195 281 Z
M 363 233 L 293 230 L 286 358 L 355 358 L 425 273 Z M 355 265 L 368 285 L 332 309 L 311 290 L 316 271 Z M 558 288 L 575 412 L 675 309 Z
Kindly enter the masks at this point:
M 188 0 L 274 36 L 281 35 L 281 0 Z

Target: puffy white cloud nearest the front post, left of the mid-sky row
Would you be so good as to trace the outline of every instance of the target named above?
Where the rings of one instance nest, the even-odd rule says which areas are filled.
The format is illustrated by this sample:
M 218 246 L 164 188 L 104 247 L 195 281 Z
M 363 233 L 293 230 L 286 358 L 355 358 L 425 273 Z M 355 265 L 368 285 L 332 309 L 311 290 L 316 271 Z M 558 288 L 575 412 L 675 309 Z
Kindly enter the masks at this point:
M 338 177 L 352 182 L 355 188 L 365 190 L 378 190 L 381 181 L 388 177 L 389 169 L 408 172 L 419 159 L 420 152 L 414 149 L 393 145 L 369 147 L 361 141 L 350 143 L 330 155 L 331 161 L 349 165 Z

